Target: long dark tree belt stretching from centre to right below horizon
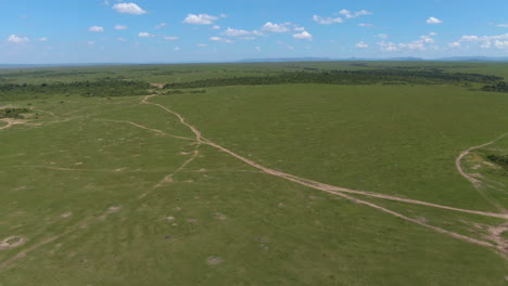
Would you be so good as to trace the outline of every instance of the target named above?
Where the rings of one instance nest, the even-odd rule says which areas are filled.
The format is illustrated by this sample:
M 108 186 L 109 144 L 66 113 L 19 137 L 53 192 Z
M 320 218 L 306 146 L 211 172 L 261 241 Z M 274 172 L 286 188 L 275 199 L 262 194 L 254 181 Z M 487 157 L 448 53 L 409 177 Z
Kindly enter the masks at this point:
M 376 83 L 410 83 L 442 84 L 461 82 L 494 83 L 500 77 L 480 74 L 444 73 L 441 69 L 408 70 L 408 69 L 369 69 L 369 70 L 329 70 L 320 73 L 294 72 L 281 73 L 264 77 L 208 78 L 190 82 L 175 82 L 165 88 L 187 89 L 224 86 L 264 86 L 284 83 L 325 83 L 325 84 L 376 84 Z

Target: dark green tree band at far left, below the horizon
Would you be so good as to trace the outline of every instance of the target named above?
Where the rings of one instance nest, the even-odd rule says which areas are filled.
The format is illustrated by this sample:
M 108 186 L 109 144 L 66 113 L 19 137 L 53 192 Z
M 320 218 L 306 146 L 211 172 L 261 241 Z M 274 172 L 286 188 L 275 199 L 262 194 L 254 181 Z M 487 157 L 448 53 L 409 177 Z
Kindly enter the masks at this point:
M 25 100 L 51 95 L 136 96 L 147 94 L 150 83 L 104 78 L 94 81 L 53 82 L 42 84 L 0 83 L 0 100 Z

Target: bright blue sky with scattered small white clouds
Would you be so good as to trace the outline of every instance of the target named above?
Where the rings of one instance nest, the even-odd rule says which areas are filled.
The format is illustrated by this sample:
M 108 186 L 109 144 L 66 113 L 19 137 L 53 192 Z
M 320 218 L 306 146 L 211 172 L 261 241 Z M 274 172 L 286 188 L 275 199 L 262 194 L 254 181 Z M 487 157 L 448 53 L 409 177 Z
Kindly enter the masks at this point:
M 508 56 L 507 0 L 0 0 L 0 64 Z

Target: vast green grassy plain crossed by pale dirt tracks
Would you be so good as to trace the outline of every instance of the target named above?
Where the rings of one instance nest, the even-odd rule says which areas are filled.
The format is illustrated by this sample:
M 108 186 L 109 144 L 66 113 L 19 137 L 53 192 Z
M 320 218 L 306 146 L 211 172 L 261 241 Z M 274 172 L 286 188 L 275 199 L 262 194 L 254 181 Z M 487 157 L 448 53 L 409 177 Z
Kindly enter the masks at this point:
M 10 69 L 0 82 L 404 65 L 506 74 L 361 64 Z M 488 156 L 508 152 L 508 93 L 204 90 L 0 102 L 37 115 L 0 121 L 0 285 L 506 285 L 508 170 Z

